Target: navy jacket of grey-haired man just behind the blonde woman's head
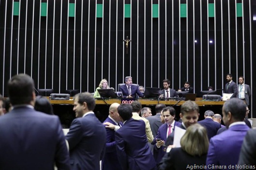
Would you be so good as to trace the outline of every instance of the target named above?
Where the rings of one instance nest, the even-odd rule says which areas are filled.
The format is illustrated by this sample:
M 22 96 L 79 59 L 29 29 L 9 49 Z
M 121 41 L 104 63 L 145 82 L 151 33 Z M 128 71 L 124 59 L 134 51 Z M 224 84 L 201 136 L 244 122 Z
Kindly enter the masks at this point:
M 207 130 L 207 136 L 210 139 L 217 134 L 217 131 L 221 128 L 220 123 L 213 121 L 212 118 L 205 118 L 198 122 Z

